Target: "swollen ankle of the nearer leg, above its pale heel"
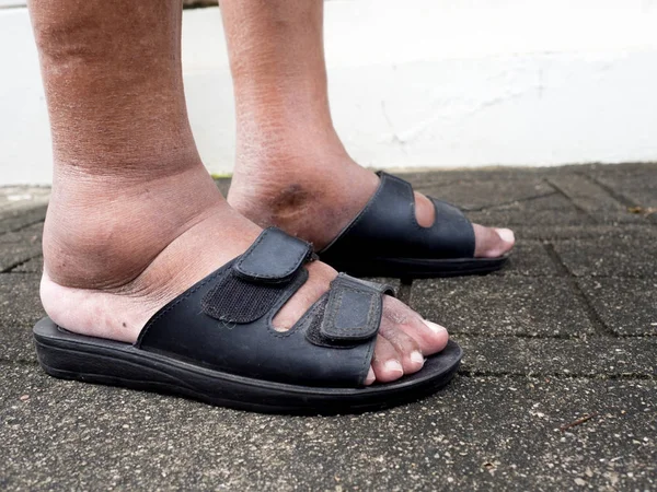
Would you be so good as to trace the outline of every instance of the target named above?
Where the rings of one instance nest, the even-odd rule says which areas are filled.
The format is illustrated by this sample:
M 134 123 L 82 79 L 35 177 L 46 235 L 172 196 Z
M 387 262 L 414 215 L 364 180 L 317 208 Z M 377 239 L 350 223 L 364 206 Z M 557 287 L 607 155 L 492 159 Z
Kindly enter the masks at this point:
M 222 207 L 228 209 L 203 168 L 148 180 L 56 174 L 44 227 L 45 271 L 62 286 L 123 288 Z

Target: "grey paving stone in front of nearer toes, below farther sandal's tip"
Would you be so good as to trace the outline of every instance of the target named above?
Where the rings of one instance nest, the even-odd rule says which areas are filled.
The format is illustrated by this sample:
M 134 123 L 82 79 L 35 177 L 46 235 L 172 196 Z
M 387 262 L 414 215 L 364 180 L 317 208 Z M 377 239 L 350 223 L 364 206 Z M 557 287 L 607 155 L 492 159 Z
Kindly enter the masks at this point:
M 452 333 L 591 335 L 593 326 L 567 282 L 520 276 L 416 280 L 411 305 Z

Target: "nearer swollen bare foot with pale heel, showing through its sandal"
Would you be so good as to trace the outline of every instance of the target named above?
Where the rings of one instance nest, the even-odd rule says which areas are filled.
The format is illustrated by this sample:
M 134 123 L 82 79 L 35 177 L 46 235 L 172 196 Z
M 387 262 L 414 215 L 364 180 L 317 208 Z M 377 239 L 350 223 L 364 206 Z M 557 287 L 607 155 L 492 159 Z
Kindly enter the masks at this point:
M 69 175 L 62 190 L 61 181 L 46 219 L 41 295 L 57 325 L 82 335 L 135 342 L 161 306 L 242 254 L 261 231 L 228 206 L 200 165 L 147 183 Z M 274 319 L 277 329 L 291 328 L 337 274 L 319 261 L 308 270 Z M 367 384 L 419 371 L 447 341 L 445 328 L 387 296 Z

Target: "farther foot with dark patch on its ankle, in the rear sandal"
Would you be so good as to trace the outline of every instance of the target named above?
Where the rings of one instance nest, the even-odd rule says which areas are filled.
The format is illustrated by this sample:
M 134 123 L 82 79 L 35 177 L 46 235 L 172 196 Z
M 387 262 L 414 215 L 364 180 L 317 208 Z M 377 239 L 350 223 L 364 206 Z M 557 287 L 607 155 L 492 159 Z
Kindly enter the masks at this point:
M 362 210 L 379 177 L 344 150 L 311 148 L 246 153 L 235 167 L 228 201 L 260 226 L 276 225 L 321 250 Z M 434 204 L 418 192 L 415 214 L 422 226 L 434 223 Z M 514 247 L 509 229 L 473 227 L 477 258 L 497 258 Z

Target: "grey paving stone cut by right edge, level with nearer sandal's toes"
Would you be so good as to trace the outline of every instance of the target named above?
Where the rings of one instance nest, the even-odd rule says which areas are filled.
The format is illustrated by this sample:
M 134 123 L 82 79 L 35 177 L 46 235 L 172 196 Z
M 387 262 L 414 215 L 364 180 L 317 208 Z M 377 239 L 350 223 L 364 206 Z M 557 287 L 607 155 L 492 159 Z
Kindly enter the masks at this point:
M 578 279 L 602 321 L 615 333 L 657 336 L 657 279 Z

